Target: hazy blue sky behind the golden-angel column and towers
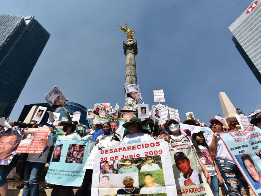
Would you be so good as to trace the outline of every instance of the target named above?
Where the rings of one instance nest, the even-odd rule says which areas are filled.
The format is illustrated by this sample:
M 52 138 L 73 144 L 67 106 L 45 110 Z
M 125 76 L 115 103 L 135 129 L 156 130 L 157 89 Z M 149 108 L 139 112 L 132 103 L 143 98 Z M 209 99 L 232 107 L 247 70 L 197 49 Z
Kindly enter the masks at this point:
M 163 89 L 169 107 L 193 112 L 200 122 L 223 115 L 225 92 L 243 113 L 261 108 L 260 84 L 232 42 L 228 27 L 250 6 L 246 0 L 58 0 L 2 1 L 1 14 L 29 16 L 51 34 L 10 115 L 26 104 L 45 103 L 56 85 L 69 101 L 92 109 L 95 103 L 123 108 L 126 34 L 136 31 L 137 83 L 142 99 L 154 102 Z M 142 103 L 142 102 L 140 102 Z

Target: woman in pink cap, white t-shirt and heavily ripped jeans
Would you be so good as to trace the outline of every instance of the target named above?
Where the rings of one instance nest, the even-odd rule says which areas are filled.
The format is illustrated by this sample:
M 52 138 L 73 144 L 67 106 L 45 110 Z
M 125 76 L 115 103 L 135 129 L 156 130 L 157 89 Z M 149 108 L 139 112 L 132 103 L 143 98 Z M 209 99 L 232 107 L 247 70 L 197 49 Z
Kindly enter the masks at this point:
M 212 125 L 213 134 L 208 135 L 207 144 L 212 152 L 215 151 L 216 164 L 228 187 L 228 194 L 249 195 L 249 186 L 246 180 L 220 139 L 219 133 L 223 131 L 223 123 L 215 118 L 210 119 L 209 122 Z

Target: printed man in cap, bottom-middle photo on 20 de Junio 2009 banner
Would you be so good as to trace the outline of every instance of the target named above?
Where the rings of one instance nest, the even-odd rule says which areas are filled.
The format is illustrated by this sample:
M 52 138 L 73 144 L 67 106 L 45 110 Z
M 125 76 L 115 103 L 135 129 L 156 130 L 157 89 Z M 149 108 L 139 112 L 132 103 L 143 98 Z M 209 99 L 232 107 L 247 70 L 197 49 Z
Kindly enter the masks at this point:
M 125 186 L 123 189 L 119 189 L 117 194 L 124 195 L 124 194 L 139 194 L 139 188 L 133 186 L 134 180 L 131 176 L 125 176 L 122 179 L 122 183 Z

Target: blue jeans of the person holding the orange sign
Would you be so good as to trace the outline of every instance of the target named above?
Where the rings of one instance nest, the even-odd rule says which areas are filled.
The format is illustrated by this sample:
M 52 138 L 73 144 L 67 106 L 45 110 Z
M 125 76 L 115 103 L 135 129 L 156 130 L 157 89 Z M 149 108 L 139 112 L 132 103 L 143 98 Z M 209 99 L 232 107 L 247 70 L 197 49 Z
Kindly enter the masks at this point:
M 39 196 L 38 178 L 44 167 L 45 163 L 25 162 L 25 186 L 22 196 Z

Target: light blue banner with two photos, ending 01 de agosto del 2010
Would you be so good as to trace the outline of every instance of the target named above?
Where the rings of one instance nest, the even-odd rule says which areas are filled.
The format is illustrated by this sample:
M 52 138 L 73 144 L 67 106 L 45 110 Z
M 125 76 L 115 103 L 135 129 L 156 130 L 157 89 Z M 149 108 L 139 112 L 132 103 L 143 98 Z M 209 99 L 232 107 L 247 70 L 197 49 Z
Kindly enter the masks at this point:
M 45 182 L 64 186 L 81 186 L 84 163 L 89 154 L 90 137 L 70 140 L 59 136 L 45 176 Z

